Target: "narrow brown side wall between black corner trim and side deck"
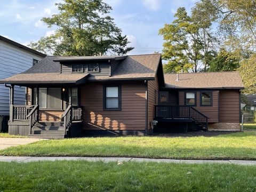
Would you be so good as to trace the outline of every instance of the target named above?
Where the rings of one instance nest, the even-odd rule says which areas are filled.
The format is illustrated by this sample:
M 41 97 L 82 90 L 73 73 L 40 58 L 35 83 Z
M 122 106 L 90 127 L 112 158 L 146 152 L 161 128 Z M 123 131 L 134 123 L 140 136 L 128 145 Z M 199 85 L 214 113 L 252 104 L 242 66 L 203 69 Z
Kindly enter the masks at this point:
M 148 129 L 150 129 L 150 122 L 155 116 L 155 105 L 158 103 L 158 90 L 158 79 L 156 76 L 154 81 L 148 81 Z

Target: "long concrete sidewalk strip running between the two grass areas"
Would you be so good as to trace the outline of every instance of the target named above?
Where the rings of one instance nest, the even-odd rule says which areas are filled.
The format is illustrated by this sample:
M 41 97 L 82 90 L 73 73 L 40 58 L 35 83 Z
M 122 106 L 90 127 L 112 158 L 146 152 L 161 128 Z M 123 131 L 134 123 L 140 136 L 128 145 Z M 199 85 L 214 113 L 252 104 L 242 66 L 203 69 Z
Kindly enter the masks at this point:
M 219 163 L 219 164 L 238 164 L 238 165 L 256 165 L 256 161 L 242 160 L 182 160 L 182 159 L 151 159 L 151 158 L 129 158 L 129 157 L 14 157 L 0 156 L 0 162 L 36 162 L 36 161 L 90 161 L 90 162 L 158 162 L 158 163 Z

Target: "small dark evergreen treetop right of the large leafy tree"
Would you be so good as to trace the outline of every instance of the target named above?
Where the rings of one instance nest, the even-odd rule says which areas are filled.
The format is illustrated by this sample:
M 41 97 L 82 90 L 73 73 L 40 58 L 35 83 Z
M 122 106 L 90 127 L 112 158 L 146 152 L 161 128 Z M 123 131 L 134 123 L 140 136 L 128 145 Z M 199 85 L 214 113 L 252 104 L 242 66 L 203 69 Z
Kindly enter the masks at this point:
M 132 51 L 134 47 L 127 47 L 127 45 L 131 42 L 128 41 L 127 36 L 122 36 L 121 34 L 115 37 L 115 45 L 113 46 L 112 51 L 117 55 L 124 55 L 129 51 Z

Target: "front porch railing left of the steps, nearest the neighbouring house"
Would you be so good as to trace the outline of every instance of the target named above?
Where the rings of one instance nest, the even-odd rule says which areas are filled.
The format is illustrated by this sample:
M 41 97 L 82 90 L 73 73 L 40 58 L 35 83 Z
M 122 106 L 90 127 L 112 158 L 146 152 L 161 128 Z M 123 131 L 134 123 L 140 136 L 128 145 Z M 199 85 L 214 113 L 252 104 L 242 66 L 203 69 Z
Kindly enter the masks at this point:
M 34 108 L 34 106 L 25 105 L 11 105 L 10 106 L 10 121 L 27 120 L 27 115 Z

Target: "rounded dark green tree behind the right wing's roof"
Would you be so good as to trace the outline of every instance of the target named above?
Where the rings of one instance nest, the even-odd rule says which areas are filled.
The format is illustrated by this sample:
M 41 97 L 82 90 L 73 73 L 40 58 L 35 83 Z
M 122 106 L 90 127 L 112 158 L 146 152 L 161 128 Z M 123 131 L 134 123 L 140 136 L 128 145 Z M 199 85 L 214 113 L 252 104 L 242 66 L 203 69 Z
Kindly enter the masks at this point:
M 220 49 L 216 57 L 210 61 L 208 71 L 234 71 L 239 68 L 239 59 L 225 49 Z

